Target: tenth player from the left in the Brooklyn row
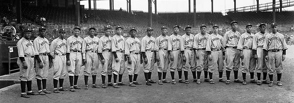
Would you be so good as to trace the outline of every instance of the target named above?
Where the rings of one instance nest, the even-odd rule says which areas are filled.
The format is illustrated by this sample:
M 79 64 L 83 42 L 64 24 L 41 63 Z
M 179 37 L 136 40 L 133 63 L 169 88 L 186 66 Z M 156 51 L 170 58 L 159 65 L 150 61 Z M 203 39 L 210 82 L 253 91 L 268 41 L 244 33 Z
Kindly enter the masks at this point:
M 170 83 L 166 80 L 167 76 L 167 69 L 169 67 L 169 60 L 173 61 L 173 55 L 172 54 L 172 44 L 171 39 L 169 36 L 167 36 L 167 27 L 162 26 L 161 27 L 161 33 L 159 37 L 156 38 L 155 44 L 154 44 L 154 51 L 155 51 L 155 59 L 158 65 L 158 84 L 162 85 L 164 83 Z M 162 79 L 161 80 L 161 75 Z

